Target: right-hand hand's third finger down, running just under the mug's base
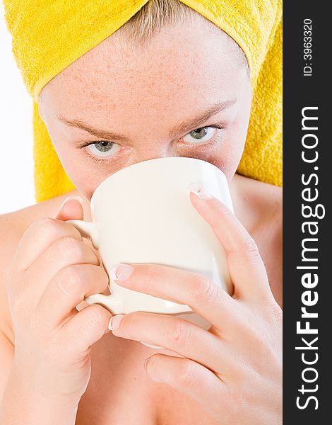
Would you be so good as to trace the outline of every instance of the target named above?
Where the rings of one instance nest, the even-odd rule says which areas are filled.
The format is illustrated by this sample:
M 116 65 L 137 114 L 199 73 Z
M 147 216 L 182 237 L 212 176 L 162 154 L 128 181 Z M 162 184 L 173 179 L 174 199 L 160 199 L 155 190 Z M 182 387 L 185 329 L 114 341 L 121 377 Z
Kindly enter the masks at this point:
M 234 368 L 234 353 L 224 341 L 179 317 L 148 312 L 125 314 L 112 333 L 121 338 L 162 346 L 216 373 L 231 373 Z

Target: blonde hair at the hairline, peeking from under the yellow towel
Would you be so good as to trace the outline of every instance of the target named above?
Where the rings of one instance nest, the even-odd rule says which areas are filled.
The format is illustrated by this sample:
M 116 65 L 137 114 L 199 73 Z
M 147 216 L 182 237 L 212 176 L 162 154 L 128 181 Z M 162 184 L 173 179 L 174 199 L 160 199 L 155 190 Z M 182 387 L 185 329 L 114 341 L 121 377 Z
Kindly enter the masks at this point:
M 155 33 L 158 33 L 165 26 L 172 26 L 176 23 L 197 22 L 205 20 L 211 29 L 222 31 L 230 41 L 237 46 L 241 64 L 249 67 L 247 58 L 241 47 L 228 34 L 208 21 L 204 16 L 197 13 L 193 8 L 186 6 L 180 0 L 149 0 L 144 6 L 120 28 L 131 42 L 144 44 Z

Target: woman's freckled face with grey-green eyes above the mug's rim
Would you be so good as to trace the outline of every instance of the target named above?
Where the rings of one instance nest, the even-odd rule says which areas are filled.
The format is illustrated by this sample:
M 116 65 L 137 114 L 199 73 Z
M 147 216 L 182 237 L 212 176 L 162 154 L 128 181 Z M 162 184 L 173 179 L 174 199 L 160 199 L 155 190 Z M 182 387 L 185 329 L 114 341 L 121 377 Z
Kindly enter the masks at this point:
M 88 200 L 115 171 L 159 157 L 203 159 L 232 179 L 250 106 L 237 46 L 204 20 L 165 27 L 143 46 L 120 28 L 39 101 L 61 164 Z

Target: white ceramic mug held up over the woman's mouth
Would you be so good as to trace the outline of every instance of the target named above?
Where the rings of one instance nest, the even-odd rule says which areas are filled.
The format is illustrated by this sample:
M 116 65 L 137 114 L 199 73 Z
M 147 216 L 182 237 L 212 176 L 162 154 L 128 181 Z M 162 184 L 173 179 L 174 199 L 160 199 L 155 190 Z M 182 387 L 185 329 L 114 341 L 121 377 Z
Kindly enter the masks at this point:
M 211 327 L 188 305 L 124 288 L 109 273 L 117 263 L 155 263 L 201 273 L 232 293 L 225 250 L 191 204 L 188 186 L 192 182 L 203 184 L 233 211 L 223 172 L 196 158 L 165 157 L 138 162 L 97 186 L 90 200 L 93 221 L 66 221 L 91 239 L 109 275 L 111 295 L 90 295 L 85 302 L 98 303 L 112 314 L 172 314 L 203 329 Z

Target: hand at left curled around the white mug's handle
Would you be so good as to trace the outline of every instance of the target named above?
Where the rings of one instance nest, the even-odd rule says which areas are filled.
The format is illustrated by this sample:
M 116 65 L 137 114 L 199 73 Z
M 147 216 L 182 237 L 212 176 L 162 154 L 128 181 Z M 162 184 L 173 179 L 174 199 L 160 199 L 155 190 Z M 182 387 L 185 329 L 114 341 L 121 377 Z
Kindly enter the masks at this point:
M 65 203 L 56 219 L 42 217 L 28 227 L 5 285 L 19 385 L 78 403 L 90 379 L 91 346 L 109 331 L 112 314 L 101 305 L 76 310 L 84 297 L 107 289 L 108 276 L 78 230 L 62 221 L 70 218 L 83 219 L 77 200 Z

